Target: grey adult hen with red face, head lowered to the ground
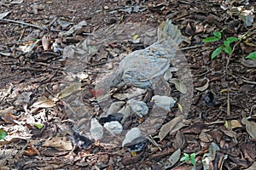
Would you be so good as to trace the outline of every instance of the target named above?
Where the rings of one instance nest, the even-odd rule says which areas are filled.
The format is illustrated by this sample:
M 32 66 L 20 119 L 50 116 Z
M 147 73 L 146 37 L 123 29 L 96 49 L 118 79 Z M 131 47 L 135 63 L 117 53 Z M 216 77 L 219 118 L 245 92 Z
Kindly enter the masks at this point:
M 175 57 L 177 46 L 182 41 L 181 32 L 177 26 L 172 25 L 171 20 L 161 23 L 158 27 L 158 41 L 122 59 L 117 71 L 102 82 L 103 86 L 96 86 L 97 96 L 108 91 L 102 88 L 120 88 L 124 85 L 152 88 L 156 78 L 169 69 L 170 59 Z

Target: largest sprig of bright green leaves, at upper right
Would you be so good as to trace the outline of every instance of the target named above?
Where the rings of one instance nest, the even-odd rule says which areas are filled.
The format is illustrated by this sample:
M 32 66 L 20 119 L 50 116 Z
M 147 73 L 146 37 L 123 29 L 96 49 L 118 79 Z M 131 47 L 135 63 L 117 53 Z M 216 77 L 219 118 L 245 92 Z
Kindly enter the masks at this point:
M 207 37 L 203 39 L 203 42 L 218 42 L 222 37 L 222 31 L 214 31 L 213 36 L 214 37 Z M 222 51 L 224 51 L 227 54 L 232 53 L 232 48 L 230 47 L 230 43 L 239 41 L 239 38 L 237 37 L 227 37 L 226 40 L 224 40 L 223 44 L 216 48 L 211 55 L 211 58 L 214 59 L 218 54 L 220 54 Z

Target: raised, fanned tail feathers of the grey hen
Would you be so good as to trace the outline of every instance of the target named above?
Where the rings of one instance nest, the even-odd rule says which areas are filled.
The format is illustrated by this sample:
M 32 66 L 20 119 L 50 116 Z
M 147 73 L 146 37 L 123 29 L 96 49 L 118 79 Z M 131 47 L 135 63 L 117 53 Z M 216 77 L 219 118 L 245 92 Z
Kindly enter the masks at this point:
M 172 24 L 171 20 L 166 20 L 158 27 L 158 43 L 172 46 L 178 46 L 183 41 L 183 36 L 177 26 Z M 174 44 L 173 44 L 174 43 Z M 177 48 L 177 47 L 176 47 Z

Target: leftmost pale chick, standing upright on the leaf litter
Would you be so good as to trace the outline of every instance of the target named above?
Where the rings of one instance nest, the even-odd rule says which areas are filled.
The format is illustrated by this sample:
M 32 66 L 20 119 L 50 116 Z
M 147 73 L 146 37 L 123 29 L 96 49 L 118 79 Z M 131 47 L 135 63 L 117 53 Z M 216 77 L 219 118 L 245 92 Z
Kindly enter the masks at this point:
M 96 120 L 96 118 L 92 118 L 90 121 L 90 133 L 91 137 L 95 140 L 102 139 L 103 136 L 103 127 L 102 125 Z

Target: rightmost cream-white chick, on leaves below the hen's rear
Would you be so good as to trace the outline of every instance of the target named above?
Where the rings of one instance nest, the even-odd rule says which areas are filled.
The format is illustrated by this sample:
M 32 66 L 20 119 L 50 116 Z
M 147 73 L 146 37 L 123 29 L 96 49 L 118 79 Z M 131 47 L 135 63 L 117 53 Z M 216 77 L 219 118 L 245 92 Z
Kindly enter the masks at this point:
M 176 103 L 176 100 L 172 99 L 172 97 L 160 95 L 154 95 L 152 100 L 154 101 L 154 105 L 163 108 L 166 111 L 171 111 L 171 108 Z

